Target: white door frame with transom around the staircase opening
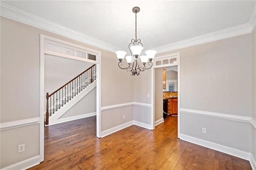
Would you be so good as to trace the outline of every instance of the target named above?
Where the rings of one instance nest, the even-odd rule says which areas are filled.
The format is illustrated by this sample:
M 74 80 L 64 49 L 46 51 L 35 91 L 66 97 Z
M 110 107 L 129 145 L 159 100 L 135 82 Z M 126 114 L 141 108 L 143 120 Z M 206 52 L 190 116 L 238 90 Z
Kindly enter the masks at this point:
M 45 59 L 47 56 L 63 57 L 65 59 L 81 61 L 96 65 L 96 136 L 101 137 L 101 112 L 100 112 L 100 69 L 101 69 L 101 52 L 94 49 L 77 45 L 74 43 L 52 38 L 40 34 L 40 162 L 44 161 L 44 121 L 45 121 Z M 67 62 L 67 61 L 65 61 Z M 55 63 L 55 67 L 60 67 Z M 66 63 L 68 64 L 68 63 Z M 64 68 L 63 68 L 64 69 Z M 90 76 L 92 77 L 92 75 Z M 77 83 L 78 84 L 78 83 Z M 80 83 L 79 83 L 80 85 Z M 69 92 L 71 94 L 71 91 Z M 59 97 L 60 99 L 60 97 Z

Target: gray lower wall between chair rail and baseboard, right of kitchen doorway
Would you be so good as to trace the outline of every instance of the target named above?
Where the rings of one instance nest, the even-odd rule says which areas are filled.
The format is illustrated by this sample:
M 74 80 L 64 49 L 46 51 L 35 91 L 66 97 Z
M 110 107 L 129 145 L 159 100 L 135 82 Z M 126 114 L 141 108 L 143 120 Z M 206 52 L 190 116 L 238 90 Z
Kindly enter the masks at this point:
M 245 152 L 251 151 L 251 125 L 206 116 L 181 113 L 180 133 L 222 144 Z M 202 127 L 207 134 L 202 133 Z

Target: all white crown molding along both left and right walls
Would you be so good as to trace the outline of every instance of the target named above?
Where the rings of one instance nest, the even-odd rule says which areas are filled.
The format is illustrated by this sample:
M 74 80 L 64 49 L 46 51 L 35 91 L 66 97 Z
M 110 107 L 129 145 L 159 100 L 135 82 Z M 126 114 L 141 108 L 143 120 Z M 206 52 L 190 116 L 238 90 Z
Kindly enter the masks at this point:
M 117 50 L 124 50 L 112 44 L 100 41 L 96 38 L 92 38 L 80 32 L 76 32 L 75 30 L 71 30 L 69 28 L 61 26 L 54 22 L 50 22 L 48 20 L 45 20 L 43 18 L 40 18 L 38 16 L 35 16 L 33 14 L 20 10 L 18 8 L 14 8 L 2 2 L 1 2 L 0 10 L 1 10 L 1 16 L 3 17 L 6 17 L 18 22 L 22 22 L 24 24 L 28 24 L 30 26 L 34 26 L 42 30 L 53 32 L 55 34 L 65 36 L 65 37 L 77 40 L 79 42 L 93 45 L 95 47 L 99 47 L 101 49 L 105 49 L 111 52 L 115 52 Z M 252 15 L 247 24 L 235 26 L 235 27 L 220 30 L 217 32 L 212 32 L 210 34 L 205 34 L 202 36 L 190 38 L 180 42 L 163 45 L 163 46 L 154 48 L 154 50 L 156 50 L 158 53 L 163 53 L 163 52 L 172 51 L 175 49 L 181 49 L 184 47 L 190 47 L 190 46 L 198 45 L 202 43 L 208 43 L 208 42 L 213 42 L 217 40 L 222 40 L 225 38 L 240 36 L 243 34 L 251 33 L 255 28 L 255 26 L 256 26 L 256 6 L 254 6 L 254 10 L 252 11 Z

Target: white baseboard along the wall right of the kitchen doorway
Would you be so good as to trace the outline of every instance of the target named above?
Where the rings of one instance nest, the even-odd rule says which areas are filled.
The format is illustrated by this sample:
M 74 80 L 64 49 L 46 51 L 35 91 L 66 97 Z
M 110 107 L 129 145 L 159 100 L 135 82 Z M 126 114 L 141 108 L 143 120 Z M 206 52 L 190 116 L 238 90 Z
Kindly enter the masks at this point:
M 192 137 L 192 136 L 188 136 L 186 134 L 180 134 L 180 139 L 181 140 L 186 140 L 186 141 L 194 143 L 194 144 L 198 144 L 200 146 L 204 146 L 206 148 L 217 150 L 217 151 L 223 152 L 225 154 L 236 156 L 238 158 L 242 158 L 242 159 L 245 159 L 245 160 L 250 161 L 250 159 L 251 159 L 251 153 L 249 153 L 249 152 L 245 152 L 245 151 L 238 150 L 238 149 L 235 149 L 235 148 L 230 148 L 228 146 L 224 146 L 224 145 L 217 144 L 217 143 L 214 143 L 214 142 L 210 142 L 210 141 L 207 141 L 207 140 L 203 140 L 203 139 L 200 139 L 200 138 L 195 138 L 195 137 Z

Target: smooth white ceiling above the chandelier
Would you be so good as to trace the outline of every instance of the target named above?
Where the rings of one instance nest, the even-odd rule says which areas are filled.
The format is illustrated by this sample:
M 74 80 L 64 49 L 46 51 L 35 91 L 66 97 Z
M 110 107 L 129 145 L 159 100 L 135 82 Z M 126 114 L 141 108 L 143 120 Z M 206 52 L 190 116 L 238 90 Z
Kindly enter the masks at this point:
M 134 6 L 140 7 L 137 38 L 144 49 L 152 49 L 248 24 L 256 4 L 255 0 L 1 2 L 126 51 L 135 38 Z

